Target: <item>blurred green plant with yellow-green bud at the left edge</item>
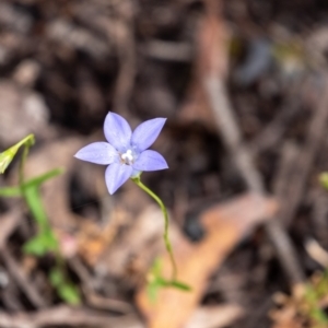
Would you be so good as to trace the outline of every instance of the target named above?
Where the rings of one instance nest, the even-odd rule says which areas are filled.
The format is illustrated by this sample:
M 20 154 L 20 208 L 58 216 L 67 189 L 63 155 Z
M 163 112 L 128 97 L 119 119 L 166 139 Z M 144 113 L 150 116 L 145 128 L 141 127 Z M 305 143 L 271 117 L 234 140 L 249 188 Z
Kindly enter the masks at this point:
M 47 213 L 43 206 L 40 197 L 40 186 L 48 179 L 63 173 L 62 168 L 51 169 L 43 175 L 34 177 L 25 181 L 24 164 L 28 154 L 30 147 L 34 144 L 34 136 L 30 134 L 15 145 L 0 153 L 0 173 L 3 173 L 8 165 L 12 162 L 14 155 L 21 145 L 24 151 L 20 165 L 20 185 L 16 187 L 0 188 L 2 197 L 21 197 L 25 200 L 28 210 L 36 222 L 38 233 L 23 246 L 23 250 L 35 256 L 44 256 L 52 254 L 56 257 L 57 266 L 50 272 L 50 283 L 56 289 L 58 295 L 69 304 L 80 303 L 80 293 L 74 284 L 69 281 L 66 274 L 62 259 L 60 256 L 58 239 L 49 224 Z

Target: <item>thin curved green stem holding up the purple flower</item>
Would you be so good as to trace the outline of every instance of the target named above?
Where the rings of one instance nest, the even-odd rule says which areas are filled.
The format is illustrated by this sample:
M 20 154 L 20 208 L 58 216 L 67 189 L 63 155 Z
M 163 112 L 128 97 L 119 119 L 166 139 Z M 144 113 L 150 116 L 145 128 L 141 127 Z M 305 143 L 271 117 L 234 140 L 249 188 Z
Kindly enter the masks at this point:
M 176 276 L 177 276 L 177 266 L 176 266 L 175 258 L 174 258 L 174 255 L 173 255 L 172 244 L 171 244 L 169 238 L 168 238 L 168 215 L 167 215 L 166 207 L 164 206 L 162 199 L 156 194 L 154 194 L 151 189 L 149 189 L 147 186 L 144 186 L 141 183 L 140 176 L 138 176 L 136 178 L 132 178 L 132 180 L 137 186 L 139 186 L 149 196 L 151 196 L 159 203 L 159 206 L 162 210 L 162 213 L 164 215 L 164 234 L 163 234 L 163 237 L 164 237 L 165 247 L 166 247 L 166 250 L 168 253 L 169 260 L 171 260 L 172 268 L 173 268 L 172 281 L 175 281 Z

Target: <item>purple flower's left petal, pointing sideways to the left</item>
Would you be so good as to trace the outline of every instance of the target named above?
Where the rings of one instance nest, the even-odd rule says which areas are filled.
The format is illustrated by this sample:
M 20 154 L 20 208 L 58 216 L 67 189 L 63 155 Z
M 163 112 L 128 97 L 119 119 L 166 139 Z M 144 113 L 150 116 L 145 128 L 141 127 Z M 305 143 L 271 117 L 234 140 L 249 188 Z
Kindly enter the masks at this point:
M 80 149 L 74 156 L 82 161 L 103 165 L 108 165 L 119 160 L 116 149 L 108 142 L 90 143 Z

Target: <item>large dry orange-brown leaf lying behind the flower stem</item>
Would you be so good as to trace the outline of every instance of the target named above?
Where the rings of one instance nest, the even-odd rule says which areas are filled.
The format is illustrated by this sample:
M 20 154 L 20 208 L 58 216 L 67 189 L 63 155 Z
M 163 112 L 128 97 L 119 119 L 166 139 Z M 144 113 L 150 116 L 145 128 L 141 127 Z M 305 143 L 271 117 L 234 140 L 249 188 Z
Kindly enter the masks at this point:
M 137 293 L 137 304 L 150 328 L 181 328 L 197 308 L 211 273 L 245 234 L 277 211 L 277 202 L 258 195 L 246 195 L 224 204 L 210 208 L 200 216 L 207 234 L 203 241 L 191 245 L 184 236 L 174 239 L 178 265 L 178 280 L 189 284 L 191 292 L 162 289 L 156 303 L 151 303 L 145 289 Z M 165 277 L 169 262 L 163 259 Z

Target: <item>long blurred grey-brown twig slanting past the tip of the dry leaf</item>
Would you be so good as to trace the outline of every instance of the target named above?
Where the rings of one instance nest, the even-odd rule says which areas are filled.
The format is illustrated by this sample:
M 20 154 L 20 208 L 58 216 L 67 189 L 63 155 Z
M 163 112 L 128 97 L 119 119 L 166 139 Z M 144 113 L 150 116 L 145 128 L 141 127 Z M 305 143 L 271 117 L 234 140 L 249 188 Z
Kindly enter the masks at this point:
M 234 112 L 229 102 L 223 80 L 215 74 L 208 74 L 204 78 L 203 85 L 213 110 L 219 131 L 227 150 L 233 156 L 242 177 L 247 184 L 249 190 L 261 195 L 266 194 L 262 178 L 253 164 L 250 153 L 242 143 L 242 136 Z M 280 262 L 292 283 L 295 284 L 302 282 L 304 280 L 304 274 L 301 266 L 298 265 L 296 253 L 280 222 L 274 219 L 268 220 L 265 227 L 276 247 Z

